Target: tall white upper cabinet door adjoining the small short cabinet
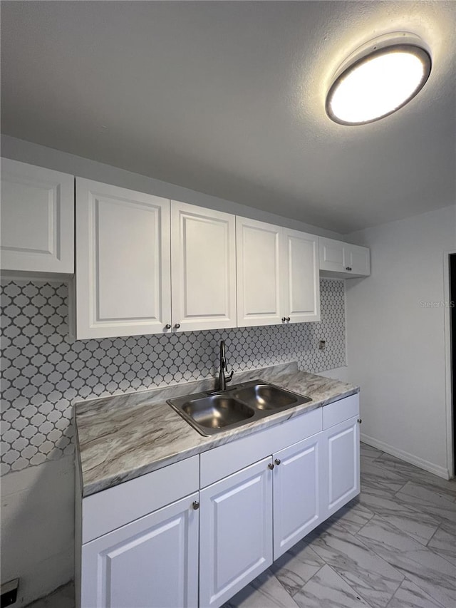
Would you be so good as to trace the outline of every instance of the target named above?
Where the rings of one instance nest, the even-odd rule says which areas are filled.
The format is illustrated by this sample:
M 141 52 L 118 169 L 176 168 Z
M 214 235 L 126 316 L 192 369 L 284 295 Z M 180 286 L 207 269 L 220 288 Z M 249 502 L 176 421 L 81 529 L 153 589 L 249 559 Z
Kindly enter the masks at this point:
M 320 320 L 318 237 L 284 228 L 283 294 L 287 322 Z

